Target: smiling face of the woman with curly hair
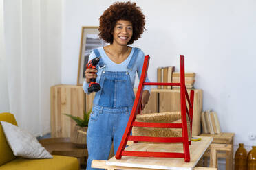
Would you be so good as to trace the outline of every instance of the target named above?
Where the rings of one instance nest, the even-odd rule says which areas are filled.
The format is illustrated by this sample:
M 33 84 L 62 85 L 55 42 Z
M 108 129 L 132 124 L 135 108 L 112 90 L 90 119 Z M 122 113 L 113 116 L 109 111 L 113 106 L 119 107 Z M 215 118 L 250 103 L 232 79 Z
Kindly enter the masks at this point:
M 127 45 L 132 37 L 132 23 L 127 20 L 118 20 L 114 27 L 113 44 Z

